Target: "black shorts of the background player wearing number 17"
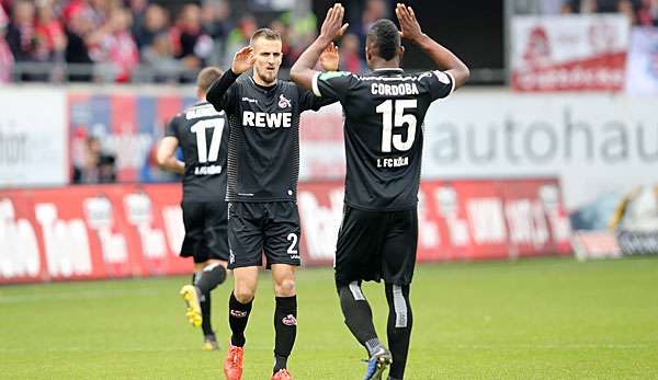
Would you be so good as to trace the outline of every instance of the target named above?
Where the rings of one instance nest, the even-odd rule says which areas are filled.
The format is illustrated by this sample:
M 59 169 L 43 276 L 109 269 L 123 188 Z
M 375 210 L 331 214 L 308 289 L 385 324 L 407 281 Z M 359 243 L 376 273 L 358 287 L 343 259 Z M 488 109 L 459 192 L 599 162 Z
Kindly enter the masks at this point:
M 228 204 L 183 200 L 181 207 L 185 239 L 180 255 L 194 257 L 194 263 L 211 258 L 228 261 Z

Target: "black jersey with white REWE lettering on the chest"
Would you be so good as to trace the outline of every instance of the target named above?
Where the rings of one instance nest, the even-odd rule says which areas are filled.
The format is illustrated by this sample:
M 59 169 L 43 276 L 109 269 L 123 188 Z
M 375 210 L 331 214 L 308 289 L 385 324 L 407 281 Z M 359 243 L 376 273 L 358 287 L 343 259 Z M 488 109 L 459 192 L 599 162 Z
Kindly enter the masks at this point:
M 296 200 L 299 115 L 336 101 L 290 81 L 259 87 L 251 77 L 235 81 L 220 96 L 209 96 L 230 126 L 226 200 Z

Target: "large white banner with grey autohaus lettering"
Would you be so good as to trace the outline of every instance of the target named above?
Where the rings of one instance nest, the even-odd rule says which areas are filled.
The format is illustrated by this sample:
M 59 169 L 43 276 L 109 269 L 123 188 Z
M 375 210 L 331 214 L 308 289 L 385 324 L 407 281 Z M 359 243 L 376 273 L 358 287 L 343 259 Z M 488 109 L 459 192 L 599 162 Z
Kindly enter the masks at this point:
M 655 108 L 655 99 L 626 95 L 457 93 L 428 111 L 422 175 L 557 176 L 575 209 L 658 182 Z

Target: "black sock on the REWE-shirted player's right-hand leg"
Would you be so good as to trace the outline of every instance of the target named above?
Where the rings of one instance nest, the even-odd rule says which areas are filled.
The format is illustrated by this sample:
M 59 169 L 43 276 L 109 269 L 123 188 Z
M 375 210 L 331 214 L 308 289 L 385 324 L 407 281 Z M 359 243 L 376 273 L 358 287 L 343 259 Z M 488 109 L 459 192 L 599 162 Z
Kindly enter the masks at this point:
M 274 370 L 287 367 L 297 336 L 297 296 L 276 297 L 274 309 Z

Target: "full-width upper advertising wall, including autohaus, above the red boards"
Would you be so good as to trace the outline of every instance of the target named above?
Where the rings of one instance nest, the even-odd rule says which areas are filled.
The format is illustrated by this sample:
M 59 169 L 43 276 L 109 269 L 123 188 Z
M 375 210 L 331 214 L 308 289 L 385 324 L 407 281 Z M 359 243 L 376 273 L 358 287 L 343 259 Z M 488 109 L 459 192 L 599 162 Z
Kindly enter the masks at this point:
M 188 91 L 0 89 L 0 188 L 68 184 L 89 136 L 116 158 L 120 182 L 175 181 L 154 151 L 169 118 L 194 102 Z M 37 114 L 24 106 L 35 99 L 48 104 Z M 423 180 L 557 176 L 574 211 L 604 192 L 658 182 L 657 115 L 649 96 L 465 89 L 426 116 Z M 344 176 L 340 105 L 304 113 L 299 140 L 303 182 Z

